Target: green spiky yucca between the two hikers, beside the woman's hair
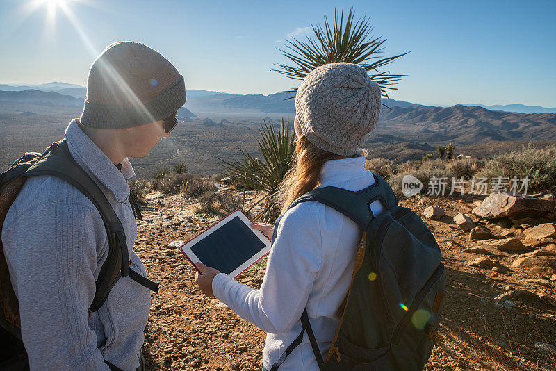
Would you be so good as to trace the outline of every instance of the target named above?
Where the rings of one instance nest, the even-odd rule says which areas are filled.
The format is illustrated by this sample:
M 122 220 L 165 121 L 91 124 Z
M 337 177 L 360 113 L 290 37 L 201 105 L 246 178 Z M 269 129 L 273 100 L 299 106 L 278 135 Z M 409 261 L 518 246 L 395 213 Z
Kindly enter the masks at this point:
M 279 213 L 272 196 L 295 161 L 295 135 L 290 129 L 289 121 L 284 122 L 284 119 L 278 129 L 272 122 L 263 121 L 259 133 L 262 138 L 257 142 L 264 160 L 254 158 L 239 147 L 243 154 L 241 160 L 235 162 L 228 162 L 221 158 L 219 160 L 222 161 L 224 171 L 234 185 L 265 192 L 249 210 L 264 201 L 265 207 L 256 217 L 272 222 Z

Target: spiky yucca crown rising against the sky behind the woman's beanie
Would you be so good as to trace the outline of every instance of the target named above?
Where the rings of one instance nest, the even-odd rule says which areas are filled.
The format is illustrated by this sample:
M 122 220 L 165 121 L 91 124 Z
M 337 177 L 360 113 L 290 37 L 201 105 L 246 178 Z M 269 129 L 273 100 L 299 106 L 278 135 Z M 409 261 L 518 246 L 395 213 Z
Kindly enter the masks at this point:
M 353 8 L 350 8 L 344 23 L 343 10 L 334 10 L 332 24 L 325 17 L 324 26 L 313 25 L 314 38 L 307 37 L 305 42 L 293 38 L 286 40 L 286 50 L 279 49 L 293 65 L 276 64 L 279 69 L 274 71 L 284 74 L 291 79 L 303 80 L 309 72 L 327 63 L 347 62 L 363 67 L 373 81 L 376 81 L 382 94 L 388 97 L 390 90 L 402 79 L 402 76 L 390 74 L 389 71 L 379 72 L 379 69 L 389 65 L 394 60 L 406 55 L 399 54 L 382 58 L 384 42 L 380 37 L 371 35 L 373 27 L 367 17 L 354 19 Z M 292 89 L 289 92 L 297 92 Z

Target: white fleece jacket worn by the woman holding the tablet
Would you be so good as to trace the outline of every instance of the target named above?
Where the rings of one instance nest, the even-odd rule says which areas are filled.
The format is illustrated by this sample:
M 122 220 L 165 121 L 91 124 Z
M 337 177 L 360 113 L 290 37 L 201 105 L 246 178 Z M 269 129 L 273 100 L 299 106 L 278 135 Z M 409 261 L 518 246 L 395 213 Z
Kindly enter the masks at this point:
M 320 174 L 321 187 L 367 188 L 374 178 L 364 163 L 362 156 L 328 161 Z M 377 215 L 382 206 L 372 204 L 371 209 Z M 350 286 L 359 238 L 359 226 L 343 214 L 315 201 L 304 202 L 282 218 L 260 290 L 223 273 L 215 277 L 215 297 L 268 332 L 263 351 L 267 370 L 300 334 L 304 308 L 326 356 L 338 326 L 338 308 Z M 306 334 L 279 370 L 318 370 Z

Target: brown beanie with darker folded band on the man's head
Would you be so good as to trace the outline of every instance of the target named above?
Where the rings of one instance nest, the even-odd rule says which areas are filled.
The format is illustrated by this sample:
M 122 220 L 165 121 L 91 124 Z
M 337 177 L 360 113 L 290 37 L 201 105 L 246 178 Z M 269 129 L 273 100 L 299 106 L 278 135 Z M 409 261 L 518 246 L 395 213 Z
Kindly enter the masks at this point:
M 139 42 L 115 42 L 92 63 L 81 124 L 139 126 L 172 115 L 184 103 L 186 85 L 172 63 Z

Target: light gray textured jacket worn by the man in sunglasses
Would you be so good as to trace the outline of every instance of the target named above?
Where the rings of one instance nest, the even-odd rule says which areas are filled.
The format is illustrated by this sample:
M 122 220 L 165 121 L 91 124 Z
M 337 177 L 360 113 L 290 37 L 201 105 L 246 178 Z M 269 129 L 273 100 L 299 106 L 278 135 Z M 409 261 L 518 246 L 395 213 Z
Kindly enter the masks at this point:
M 76 120 L 65 138 L 120 218 L 131 267 L 146 277 L 132 250 L 137 225 L 128 201 L 126 179 L 135 177 L 129 160 L 117 170 Z M 138 368 L 150 292 L 124 277 L 99 311 L 89 315 L 108 238 L 87 197 L 54 176 L 28 179 L 6 216 L 2 242 L 31 370 L 108 370 L 105 359 L 122 370 Z

